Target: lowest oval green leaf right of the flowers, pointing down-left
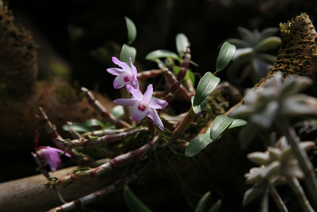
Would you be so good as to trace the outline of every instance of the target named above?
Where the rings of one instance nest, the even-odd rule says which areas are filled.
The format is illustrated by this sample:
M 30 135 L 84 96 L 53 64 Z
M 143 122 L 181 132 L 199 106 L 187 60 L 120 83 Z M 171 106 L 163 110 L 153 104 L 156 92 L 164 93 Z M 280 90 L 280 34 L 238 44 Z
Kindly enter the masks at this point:
M 201 134 L 195 137 L 188 144 L 185 150 L 185 156 L 192 157 L 198 154 L 201 150 L 203 150 L 208 144 L 210 144 L 213 140 L 210 139 L 209 134 Z

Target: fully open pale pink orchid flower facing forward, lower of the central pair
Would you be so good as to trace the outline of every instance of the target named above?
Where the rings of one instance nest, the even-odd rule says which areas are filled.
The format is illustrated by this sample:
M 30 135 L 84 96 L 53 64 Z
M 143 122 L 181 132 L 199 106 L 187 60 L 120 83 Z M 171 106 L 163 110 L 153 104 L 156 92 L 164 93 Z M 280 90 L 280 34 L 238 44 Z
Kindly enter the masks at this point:
M 161 99 L 152 99 L 153 85 L 150 84 L 148 86 L 144 95 L 139 89 L 134 89 L 129 84 L 127 84 L 125 87 L 127 88 L 128 92 L 133 95 L 133 98 L 115 99 L 113 102 L 118 105 L 131 107 L 131 117 L 133 121 L 140 121 L 147 116 L 153 120 L 160 130 L 164 130 L 163 123 L 160 120 L 156 109 L 163 109 L 167 106 L 167 102 Z

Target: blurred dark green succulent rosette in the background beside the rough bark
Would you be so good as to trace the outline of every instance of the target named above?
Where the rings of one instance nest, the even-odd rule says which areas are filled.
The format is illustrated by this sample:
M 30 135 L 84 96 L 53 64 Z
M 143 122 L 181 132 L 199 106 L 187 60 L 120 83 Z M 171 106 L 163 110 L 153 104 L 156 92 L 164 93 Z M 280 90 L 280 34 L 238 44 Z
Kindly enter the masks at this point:
M 228 80 L 241 85 L 250 77 L 252 83 L 256 84 L 276 61 L 276 56 L 267 52 L 277 49 L 281 43 L 279 37 L 273 36 L 278 32 L 278 28 L 269 27 L 259 32 L 258 29 L 250 31 L 239 26 L 237 31 L 241 39 L 226 40 L 237 47 L 232 63 L 227 69 Z

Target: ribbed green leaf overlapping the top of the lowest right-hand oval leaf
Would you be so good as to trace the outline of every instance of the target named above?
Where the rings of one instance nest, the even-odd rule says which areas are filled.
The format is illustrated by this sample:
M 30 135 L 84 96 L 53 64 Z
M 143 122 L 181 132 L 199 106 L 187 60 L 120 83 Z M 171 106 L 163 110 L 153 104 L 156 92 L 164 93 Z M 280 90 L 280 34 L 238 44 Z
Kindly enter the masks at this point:
M 217 116 L 211 125 L 210 130 L 210 138 L 213 141 L 216 141 L 221 134 L 231 125 L 231 123 L 234 121 L 234 119 L 229 118 L 225 115 L 219 115 Z

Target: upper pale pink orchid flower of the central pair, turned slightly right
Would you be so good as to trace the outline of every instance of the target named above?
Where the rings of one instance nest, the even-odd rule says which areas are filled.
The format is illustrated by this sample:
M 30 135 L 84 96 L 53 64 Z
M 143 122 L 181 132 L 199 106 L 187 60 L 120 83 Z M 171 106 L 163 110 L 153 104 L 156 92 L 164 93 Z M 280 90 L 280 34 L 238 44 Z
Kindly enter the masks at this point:
M 137 69 L 132 64 L 131 57 L 129 60 L 131 68 L 128 66 L 128 64 L 119 61 L 116 57 L 112 57 L 112 62 L 122 68 L 107 69 L 108 73 L 116 76 L 113 81 L 113 87 L 115 89 L 121 88 L 126 84 L 132 85 L 135 89 L 140 89 L 139 81 L 137 79 Z

